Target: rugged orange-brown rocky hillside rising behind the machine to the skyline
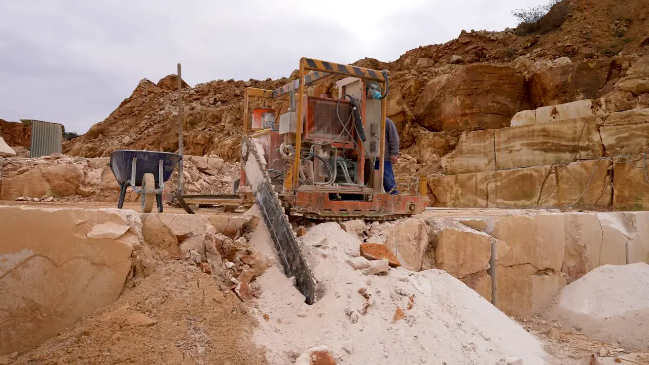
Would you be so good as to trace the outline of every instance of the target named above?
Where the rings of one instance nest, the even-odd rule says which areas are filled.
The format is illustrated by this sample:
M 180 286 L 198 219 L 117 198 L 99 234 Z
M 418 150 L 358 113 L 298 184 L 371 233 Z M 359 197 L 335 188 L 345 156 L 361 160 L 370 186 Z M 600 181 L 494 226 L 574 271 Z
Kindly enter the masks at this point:
M 422 164 L 452 151 L 461 132 L 506 127 L 520 110 L 601 97 L 611 110 L 649 105 L 642 75 L 635 86 L 618 84 L 649 53 L 648 14 L 649 0 L 564 0 L 534 32 L 462 31 L 446 44 L 412 49 L 394 62 L 365 58 L 354 64 L 389 69 L 388 116 L 397 123 L 404 152 L 412 157 L 407 159 Z M 277 88 L 296 75 L 186 86 L 185 152 L 238 160 L 243 89 Z M 176 82 L 175 75 L 157 84 L 143 79 L 106 120 L 67 142 L 65 152 L 107 157 L 125 147 L 175 151 Z M 336 97 L 334 82 L 311 92 Z

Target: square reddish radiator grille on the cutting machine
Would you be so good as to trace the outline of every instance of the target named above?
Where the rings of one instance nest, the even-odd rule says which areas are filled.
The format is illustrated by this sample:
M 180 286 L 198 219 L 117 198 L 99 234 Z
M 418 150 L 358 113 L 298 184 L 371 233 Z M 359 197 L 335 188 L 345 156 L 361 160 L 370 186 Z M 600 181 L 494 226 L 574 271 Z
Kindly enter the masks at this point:
M 338 106 L 340 120 L 336 115 L 335 100 L 318 97 L 308 97 L 306 108 L 306 129 L 305 138 L 308 140 L 346 143 L 352 138 L 348 132 L 343 131 L 343 125 L 347 131 L 352 131 L 354 121 L 349 118 L 352 114 L 352 107 L 349 101 L 341 100 Z

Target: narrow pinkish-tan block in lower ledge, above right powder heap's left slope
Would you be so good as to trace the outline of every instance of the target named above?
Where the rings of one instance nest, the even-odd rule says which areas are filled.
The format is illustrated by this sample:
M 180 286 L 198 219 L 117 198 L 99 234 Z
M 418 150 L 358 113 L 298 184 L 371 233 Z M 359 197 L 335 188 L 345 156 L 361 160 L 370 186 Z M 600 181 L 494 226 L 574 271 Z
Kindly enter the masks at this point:
M 570 213 L 564 217 L 565 254 L 561 272 L 565 273 L 567 283 L 572 283 L 599 266 L 604 236 L 596 213 Z

